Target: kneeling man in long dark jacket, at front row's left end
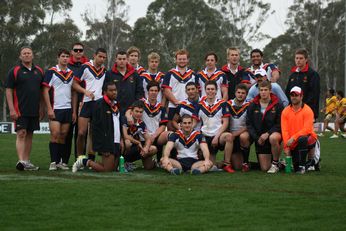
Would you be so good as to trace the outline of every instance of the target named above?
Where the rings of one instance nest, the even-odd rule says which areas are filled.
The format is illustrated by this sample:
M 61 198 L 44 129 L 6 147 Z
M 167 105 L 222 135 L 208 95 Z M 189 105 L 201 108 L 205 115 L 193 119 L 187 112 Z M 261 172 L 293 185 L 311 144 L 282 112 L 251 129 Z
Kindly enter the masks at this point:
M 113 171 L 119 163 L 120 156 L 120 111 L 117 88 L 114 82 L 103 86 L 103 98 L 96 101 L 92 114 L 93 149 L 102 156 L 102 162 L 97 163 L 86 156 L 80 156 L 72 166 L 72 172 L 81 167 L 91 167 L 97 172 Z

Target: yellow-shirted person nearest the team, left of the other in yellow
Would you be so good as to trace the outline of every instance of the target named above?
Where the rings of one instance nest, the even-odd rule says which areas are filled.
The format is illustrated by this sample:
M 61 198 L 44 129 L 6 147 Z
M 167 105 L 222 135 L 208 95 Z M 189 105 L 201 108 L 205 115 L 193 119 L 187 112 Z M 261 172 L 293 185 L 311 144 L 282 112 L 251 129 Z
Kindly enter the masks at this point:
M 336 103 L 338 102 L 338 99 L 335 96 L 335 90 L 334 89 L 329 89 L 326 92 L 326 102 L 325 102 L 325 107 L 321 110 L 321 112 L 325 113 L 324 116 L 324 124 L 323 124 L 323 129 L 321 133 L 318 133 L 318 136 L 324 136 L 324 132 L 326 129 L 330 131 L 334 131 L 334 129 L 330 126 L 328 126 L 329 122 L 335 117 L 335 109 L 336 109 Z

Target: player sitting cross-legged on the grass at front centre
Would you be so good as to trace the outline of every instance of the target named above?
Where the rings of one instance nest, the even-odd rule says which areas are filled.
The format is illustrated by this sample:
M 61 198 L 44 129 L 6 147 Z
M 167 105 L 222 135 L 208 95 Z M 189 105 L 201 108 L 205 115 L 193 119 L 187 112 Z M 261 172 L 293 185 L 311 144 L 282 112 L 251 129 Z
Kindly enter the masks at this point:
M 193 131 L 190 115 L 183 115 L 181 120 L 181 130 L 172 133 L 168 138 L 161 166 L 173 175 L 179 175 L 188 170 L 191 170 L 192 174 L 207 172 L 213 163 L 209 160 L 209 150 L 205 138 L 200 132 Z M 177 159 L 169 158 L 173 148 L 177 149 Z M 199 149 L 202 150 L 203 161 L 198 159 Z

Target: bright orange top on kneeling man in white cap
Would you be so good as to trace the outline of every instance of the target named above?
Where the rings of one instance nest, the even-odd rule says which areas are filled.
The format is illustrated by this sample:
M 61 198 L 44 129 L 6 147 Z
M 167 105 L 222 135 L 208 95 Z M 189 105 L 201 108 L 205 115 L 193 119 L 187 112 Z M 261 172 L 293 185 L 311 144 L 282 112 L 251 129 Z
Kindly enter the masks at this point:
M 294 111 L 292 105 L 287 106 L 281 114 L 281 131 L 284 149 L 291 138 L 297 140 L 300 136 L 311 135 L 317 139 L 314 132 L 314 113 L 307 104 Z

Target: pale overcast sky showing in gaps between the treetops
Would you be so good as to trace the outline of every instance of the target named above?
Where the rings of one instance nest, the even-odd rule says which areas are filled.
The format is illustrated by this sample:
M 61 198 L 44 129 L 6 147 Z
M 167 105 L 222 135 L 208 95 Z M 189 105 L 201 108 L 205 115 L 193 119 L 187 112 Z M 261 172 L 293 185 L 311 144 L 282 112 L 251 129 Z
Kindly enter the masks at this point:
M 125 2 L 126 5 L 129 6 L 128 24 L 133 26 L 138 18 L 145 16 L 146 10 L 153 0 L 125 0 Z M 270 2 L 272 10 L 275 10 L 275 14 L 268 18 L 261 29 L 272 37 L 283 34 L 286 30 L 284 22 L 287 10 L 293 0 L 264 0 L 263 2 Z M 107 0 L 72 0 L 72 3 L 73 8 L 70 16 L 75 21 L 76 25 L 83 31 L 83 35 L 85 35 L 87 27 L 81 15 L 88 11 L 93 14 L 95 18 L 102 18 L 107 10 Z M 264 48 L 269 41 L 270 40 L 259 41 L 251 45 L 253 48 Z

